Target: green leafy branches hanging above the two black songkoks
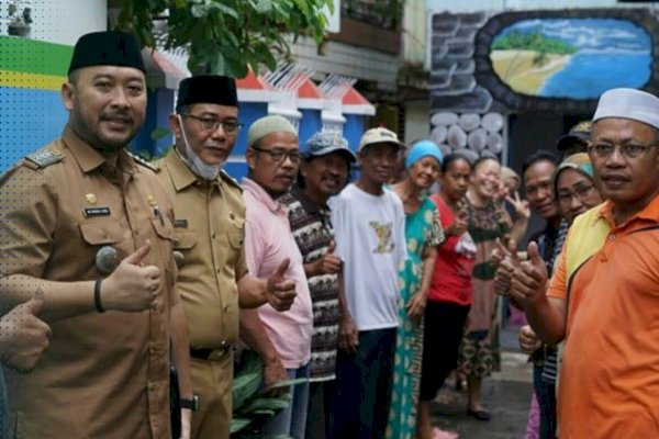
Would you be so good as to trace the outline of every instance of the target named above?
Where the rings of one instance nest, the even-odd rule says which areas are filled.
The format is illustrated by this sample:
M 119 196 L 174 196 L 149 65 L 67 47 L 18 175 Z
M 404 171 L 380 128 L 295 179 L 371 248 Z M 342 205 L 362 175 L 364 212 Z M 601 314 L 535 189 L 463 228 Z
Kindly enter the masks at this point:
M 270 70 L 290 59 L 291 36 L 320 44 L 333 0 L 110 0 L 110 25 L 134 33 L 149 47 L 185 50 L 193 74 L 243 78 L 248 68 Z

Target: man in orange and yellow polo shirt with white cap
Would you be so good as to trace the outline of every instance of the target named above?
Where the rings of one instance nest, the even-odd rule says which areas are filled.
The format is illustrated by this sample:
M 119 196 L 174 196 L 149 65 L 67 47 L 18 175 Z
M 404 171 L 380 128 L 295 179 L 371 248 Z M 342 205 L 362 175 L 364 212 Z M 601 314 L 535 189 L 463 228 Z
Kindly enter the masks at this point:
M 589 154 L 606 202 L 570 228 L 549 290 L 532 243 L 512 290 L 546 342 L 565 339 L 559 437 L 659 437 L 659 99 L 608 90 Z

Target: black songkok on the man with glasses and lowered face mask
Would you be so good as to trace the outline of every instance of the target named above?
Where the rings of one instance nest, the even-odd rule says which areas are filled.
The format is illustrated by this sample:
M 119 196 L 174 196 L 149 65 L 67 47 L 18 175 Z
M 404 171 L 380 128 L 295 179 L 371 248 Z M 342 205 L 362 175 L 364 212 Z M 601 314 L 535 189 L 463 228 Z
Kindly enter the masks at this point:
M 236 80 L 227 76 L 204 75 L 186 78 L 179 85 L 176 111 L 193 103 L 238 106 Z

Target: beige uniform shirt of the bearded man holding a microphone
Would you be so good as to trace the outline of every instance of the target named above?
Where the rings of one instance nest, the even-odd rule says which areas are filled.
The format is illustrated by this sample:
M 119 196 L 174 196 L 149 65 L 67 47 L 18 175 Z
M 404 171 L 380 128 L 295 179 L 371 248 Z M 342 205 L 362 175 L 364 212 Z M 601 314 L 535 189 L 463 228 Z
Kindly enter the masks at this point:
M 154 311 L 52 323 L 37 367 L 5 370 L 16 438 L 169 438 L 169 307 L 177 301 L 169 199 L 125 151 L 111 167 L 68 127 L 29 157 L 0 181 L 2 277 L 93 280 L 99 248 L 112 246 L 123 259 L 150 239 L 144 263 L 160 269 L 163 286 Z M 40 165 L 40 157 L 60 159 Z

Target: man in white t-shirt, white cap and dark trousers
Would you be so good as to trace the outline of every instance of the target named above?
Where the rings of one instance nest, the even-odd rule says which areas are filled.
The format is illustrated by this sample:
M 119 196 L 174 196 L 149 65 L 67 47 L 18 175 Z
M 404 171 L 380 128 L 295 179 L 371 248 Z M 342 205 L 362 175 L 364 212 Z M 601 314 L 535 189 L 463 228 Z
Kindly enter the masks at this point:
M 332 423 L 336 438 L 381 438 L 387 427 L 401 306 L 398 272 L 406 251 L 403 204 L 383 187 L 404 148 L 387 128 L 367 131 L 359 143 L 359 180 L 332 200 L 346 297 Z

